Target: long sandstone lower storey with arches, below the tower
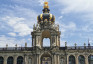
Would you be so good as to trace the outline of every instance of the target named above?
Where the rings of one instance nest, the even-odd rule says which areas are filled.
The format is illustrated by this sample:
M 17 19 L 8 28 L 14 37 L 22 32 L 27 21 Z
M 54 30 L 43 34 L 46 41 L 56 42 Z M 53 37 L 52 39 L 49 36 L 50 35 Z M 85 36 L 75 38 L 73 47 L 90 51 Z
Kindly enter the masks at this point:
M 18 57 L 23 57 L 23 64 L 46 64 L 42 62 L 49 62 L 48 64 L 70 64 L 70 56 L 75 58 L 75 64 L 79 63 L 79 56 L 84 56 L 85 64 L 89 63 L 89 56 L 93 55 L 93 48 L 89 49 L 68 49 L 66 47 L 44 47 L 42 49 L 38 47 L 31 48 L 18 48 L 14 49 L 2 49 L 0 50 L 0 57 L 3 57 L 3 64 L 7 64 L 8 58 L 13 57 L 13 64 L 18 64 Z M 46 58 L 46 60 L 43 60 Z M 47 59 L 50 60 L 47 61 Z M 1 60 L 1 59 L 0 59 Z M 72 61 L 72 62 L 74 62 Z M 82 60 L 83 61 L 83 60 Z M 91 60 L 91 62 L 93 59 Z

